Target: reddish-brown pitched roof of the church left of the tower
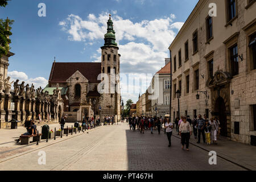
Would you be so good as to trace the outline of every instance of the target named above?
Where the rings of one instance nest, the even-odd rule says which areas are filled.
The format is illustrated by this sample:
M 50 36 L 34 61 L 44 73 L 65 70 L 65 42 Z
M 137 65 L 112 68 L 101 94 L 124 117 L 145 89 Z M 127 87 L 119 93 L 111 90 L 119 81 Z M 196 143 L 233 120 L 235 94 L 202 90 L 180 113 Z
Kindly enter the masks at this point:
M 89 82 L 101 82 L 97 80 L 101 73 L 101 63 L 53 63 L 49 82 L 66 82 L 77 70 Z

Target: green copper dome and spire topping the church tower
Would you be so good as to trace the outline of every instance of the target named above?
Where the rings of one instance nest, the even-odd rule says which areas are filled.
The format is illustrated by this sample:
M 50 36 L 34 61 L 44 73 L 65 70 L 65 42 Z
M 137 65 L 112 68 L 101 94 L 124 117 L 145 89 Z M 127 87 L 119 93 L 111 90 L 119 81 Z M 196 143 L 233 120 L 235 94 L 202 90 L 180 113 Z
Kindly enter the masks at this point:
M 108 24 L 108 32 L 105 34 L 105 44 L 104 46 L 117 46 L 117 43 L 115 43 L 115 31 L 114 31 L 114 25 L 111 19 L 111 14 L 109 14 L 109 20 L 107 22 Z

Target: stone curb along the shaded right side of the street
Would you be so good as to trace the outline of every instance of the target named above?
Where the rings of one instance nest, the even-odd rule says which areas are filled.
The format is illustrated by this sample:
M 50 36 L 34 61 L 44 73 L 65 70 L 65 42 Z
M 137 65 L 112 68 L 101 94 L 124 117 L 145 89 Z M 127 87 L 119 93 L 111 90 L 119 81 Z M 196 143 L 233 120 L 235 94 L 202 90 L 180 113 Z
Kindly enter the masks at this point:
M 161 129 L 161 130 L 164 131 L 163 129 Z M 178 137 L 177 135 L 172 135 L 172 136 L 181 139 L 181 137 Z M 210 152 L 207 148 L 202 147 L 202 146 L 199 146 L 198 144 L 195 144 L 195 143 L 193 143 L 193 142 L 189 142 L 189 144 L 192 144 L 193 146 L 196 146 L 196 147 L 198 147 L 198 148 L 201 148 L 201 149 L 204 150 L 204 151 Z M 234 161 L 233 161 L 234 159 L 230 159 L 229 156 L 227 156 L 227 155 L 225 155 L 225 154 L 221 154 L 221 155 L 220 155 L 220 153 L 218 153 L 217 156 L 218 156 L 219 158 L 221 158 L 221 159 L 227 160 L 227 161 L 230 162 L 230 163 L 233 163 L 233 164 L 235 164 L 235 165 L 237 165 L 237 166 L 240 166 L 241 168 L 246 169 L 247 171 L 254 171 L 254 170 L 255 170 L 255 169 L 251 169 L 251 166 L 248 166 L 247 164 L 240 164 L 240 163 L 237 162 L 237 161 L 234 162 Z M 245 167 L 245 166 L 246 166 L 246 167 Z

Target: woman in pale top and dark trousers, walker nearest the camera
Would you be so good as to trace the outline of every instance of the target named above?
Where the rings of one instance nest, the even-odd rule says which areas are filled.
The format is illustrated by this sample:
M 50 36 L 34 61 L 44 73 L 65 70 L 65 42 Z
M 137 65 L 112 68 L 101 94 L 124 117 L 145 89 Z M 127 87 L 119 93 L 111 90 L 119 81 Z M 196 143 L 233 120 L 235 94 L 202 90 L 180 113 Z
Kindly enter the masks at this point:
M 180 123 L 179 127 L 182 150 L 184 150 L 184 144 L 186 144 L 186 150 L 189 151 L 189 138 L 192 135 L 192 127 L 189 122 L 187 122 L 187 119 L 185 117 L 182 117 L 182 121 L 183 122 Z

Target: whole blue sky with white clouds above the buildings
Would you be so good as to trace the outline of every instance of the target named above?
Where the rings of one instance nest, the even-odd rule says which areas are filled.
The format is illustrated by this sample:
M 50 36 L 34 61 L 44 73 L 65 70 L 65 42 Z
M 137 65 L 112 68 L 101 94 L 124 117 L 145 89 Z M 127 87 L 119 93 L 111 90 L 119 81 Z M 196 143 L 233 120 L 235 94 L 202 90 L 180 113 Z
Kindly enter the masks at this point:
M 121 96 L 134 103 L 151 78 L 170 57 L 168 47 L 198 0 L 11 0 L 0 7 L 0 18 L 13 19 L 8 75 L 16 80 L 47 85 L 54 57 L 57 62 L 98 62 L 104 45 L 109 12 L 121 54 Z M 39 3 L 46 16 L 39 17 Z M 143 76 L 138 74 L 144 74 Z M 132 80 L 132 79 L 131 79 Z

